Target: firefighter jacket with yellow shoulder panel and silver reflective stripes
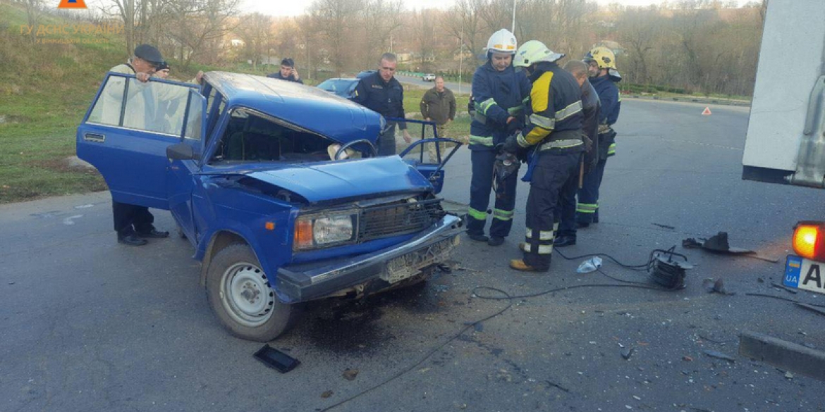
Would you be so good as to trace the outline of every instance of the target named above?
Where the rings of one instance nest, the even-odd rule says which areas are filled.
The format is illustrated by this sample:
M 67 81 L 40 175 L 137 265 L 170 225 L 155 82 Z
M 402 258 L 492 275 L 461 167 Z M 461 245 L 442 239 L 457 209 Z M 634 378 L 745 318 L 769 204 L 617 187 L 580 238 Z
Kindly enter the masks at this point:
M 556 63 L 541 62 L 530 80 L 533 87 L 526 107 L 527 125 L 518 135 L 519 146 L 542 142 L 540 150 L 582 146 L 582 90 L 573 75 Z

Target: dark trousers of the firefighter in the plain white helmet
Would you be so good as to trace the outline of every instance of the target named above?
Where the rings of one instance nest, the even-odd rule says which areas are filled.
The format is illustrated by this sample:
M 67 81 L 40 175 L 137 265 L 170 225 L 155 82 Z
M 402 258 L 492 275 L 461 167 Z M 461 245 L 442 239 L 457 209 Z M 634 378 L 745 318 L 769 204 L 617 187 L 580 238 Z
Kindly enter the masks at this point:
M 473 177 L 469 184 L 469 222 L 467 233 L 483 235 L 487 223 L 487 206 L 490 203 L 490 190 L 493 189 L 493 165 L 497 152 L 492 150 L 474 150 L 470 152 L 473 163 Z M 507 237 L 513 225 L 513 209 L 516 207 L 517 173 L 507 178 L 502 187 L 504 195 L 496 194 L 493 207 L 493 223 L 490 224 L 490 236 Z

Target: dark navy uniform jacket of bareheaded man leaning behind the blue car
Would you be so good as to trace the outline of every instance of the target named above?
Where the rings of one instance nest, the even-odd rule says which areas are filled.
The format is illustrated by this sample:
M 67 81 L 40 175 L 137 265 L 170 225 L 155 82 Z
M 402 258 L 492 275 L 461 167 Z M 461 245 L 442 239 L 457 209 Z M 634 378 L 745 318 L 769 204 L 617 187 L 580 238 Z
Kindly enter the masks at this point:
M 384 82 L 379 72 L 370 74 L 358 82 L 356 96 L 352 98 L 359 105 L 378 112 L 384 117 L 404 116 L 404 88 L 395 77 Z M 398 123 L 398 129 L 407 129 L 406 122 Z

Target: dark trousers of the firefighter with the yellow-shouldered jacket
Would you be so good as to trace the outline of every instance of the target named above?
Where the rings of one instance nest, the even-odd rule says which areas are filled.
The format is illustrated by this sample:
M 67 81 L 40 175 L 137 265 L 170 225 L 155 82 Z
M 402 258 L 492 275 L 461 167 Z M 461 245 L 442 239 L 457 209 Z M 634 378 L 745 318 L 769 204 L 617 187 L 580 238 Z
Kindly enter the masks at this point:
M 555 230 L 561 213 L 561 194 L 570 176 L 577 175 L 580 152 L 545 150 L 530 180 L 527 196 L 527 227 L 524 262 L 535 269 L 547 270 L 553 254 Z

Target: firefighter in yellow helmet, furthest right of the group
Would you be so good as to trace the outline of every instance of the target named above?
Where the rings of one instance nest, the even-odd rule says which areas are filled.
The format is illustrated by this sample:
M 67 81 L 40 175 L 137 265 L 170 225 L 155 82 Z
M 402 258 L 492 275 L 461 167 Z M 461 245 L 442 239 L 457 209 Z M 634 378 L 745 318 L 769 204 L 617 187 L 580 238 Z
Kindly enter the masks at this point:
M 621 97 L 616 83 L 621 81 L 619 71 L 616 70 L 615 55 L 606 47 L 596 47 L 585 54 L 584 63 L 587 63 L 587 73 L 590 83 L 599 94 L 601 110 L 599 111 L 599 162 L 590 173 L 584 176 L 582 189 L 578 190 L 578 204 L 576 206 L 576 224 L 578 227 L 588 227 L 591 223 L 599 222 L 599 186 L 605 175 L 607 158 L 615 155 L 616 133 L 611 127 L 619 118 Z

